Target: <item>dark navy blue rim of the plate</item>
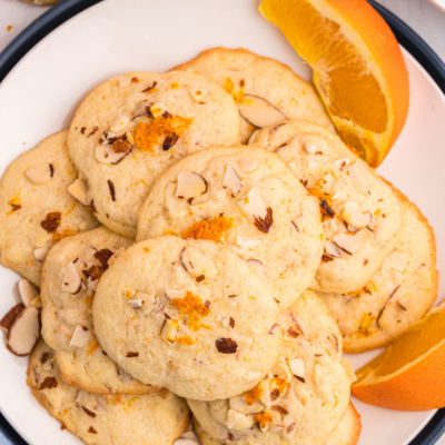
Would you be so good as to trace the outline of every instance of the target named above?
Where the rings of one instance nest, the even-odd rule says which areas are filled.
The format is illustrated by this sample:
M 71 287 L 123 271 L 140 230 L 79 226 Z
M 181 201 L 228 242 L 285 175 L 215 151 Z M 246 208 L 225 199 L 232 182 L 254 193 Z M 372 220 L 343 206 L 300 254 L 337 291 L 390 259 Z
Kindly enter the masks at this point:
M 0 53 L 0 82 L 41 39 L 79 12 L 102 0 L 62 0 L 29 24 Z M 386 20 L 398 42 L 423 66 L 445 93 L 445 63 L 404 21 L 374 0 L 368 2 Z M 445 432 L 445 408 L 438 409 L 409 445 L 433 445 Z M 3 442 L 3 438 L 8 442 Z M 27 445 L 0 413 L 0 444 Z

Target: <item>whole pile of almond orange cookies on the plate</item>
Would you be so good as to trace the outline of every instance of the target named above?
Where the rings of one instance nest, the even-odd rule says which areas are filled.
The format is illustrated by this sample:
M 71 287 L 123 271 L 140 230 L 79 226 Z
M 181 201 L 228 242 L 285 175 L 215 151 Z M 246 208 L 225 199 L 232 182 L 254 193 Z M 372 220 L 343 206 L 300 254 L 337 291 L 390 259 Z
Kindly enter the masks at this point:
M 28 384 L 87 444 L 190 445 L 189 409 L 202 445 L 355 444 L 343 345 L 390 343 L 436 296 L 418 209 L 247 50 L 97 87 L 9 167 L 0 224 L 40 287 L 8 347 L 41 306 Z

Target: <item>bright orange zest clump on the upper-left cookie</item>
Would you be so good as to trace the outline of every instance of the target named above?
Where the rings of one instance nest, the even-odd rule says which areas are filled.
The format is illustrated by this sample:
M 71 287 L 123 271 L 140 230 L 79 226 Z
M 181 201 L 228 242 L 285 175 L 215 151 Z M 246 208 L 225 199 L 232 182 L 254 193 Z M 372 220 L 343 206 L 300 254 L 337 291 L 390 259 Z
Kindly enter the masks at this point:
M 135 145 L 140 151 L 155 154 L 155 146 L 160 144 L 161 137 L 172 134 L 181 137 L 191 121 L 180 116 L 158 116 L 151 122 L 140 122 L 135 131 Z

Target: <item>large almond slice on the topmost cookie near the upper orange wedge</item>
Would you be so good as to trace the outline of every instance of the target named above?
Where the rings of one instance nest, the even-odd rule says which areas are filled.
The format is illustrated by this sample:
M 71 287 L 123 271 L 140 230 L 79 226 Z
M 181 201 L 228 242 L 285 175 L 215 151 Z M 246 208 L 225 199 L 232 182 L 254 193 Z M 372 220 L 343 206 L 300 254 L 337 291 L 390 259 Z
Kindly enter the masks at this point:
M 244 100 L 238 102 L 238 111 L 249 123 L 258 128 L 286 120 L 286 116 L 277 107 L 254 95 L 244 96 Z

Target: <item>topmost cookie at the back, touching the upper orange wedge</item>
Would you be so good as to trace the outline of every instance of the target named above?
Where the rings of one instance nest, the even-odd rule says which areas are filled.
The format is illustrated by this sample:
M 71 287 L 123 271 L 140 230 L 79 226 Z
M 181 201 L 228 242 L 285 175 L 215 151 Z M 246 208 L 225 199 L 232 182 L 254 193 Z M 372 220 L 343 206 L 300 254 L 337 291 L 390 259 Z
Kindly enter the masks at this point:
M 215 80 L 234 96 L 241 116 L 241 141 L 256 128 L 286 119 L 305 119 L 334 131 L 314 86 L 289 67 L 246 49 L 212 48 L 176 67 Z

